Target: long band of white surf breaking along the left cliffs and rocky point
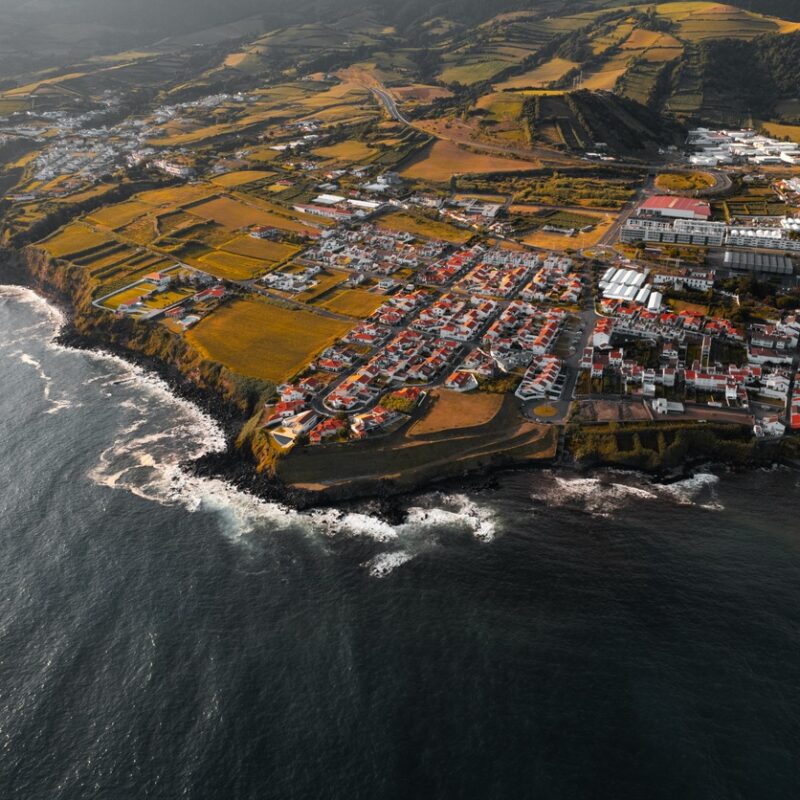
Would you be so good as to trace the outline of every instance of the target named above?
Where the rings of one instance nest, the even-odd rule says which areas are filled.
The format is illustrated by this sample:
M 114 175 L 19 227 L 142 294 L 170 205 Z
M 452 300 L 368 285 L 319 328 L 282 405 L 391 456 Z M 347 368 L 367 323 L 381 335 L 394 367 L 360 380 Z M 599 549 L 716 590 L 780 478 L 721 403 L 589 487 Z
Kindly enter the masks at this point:
M 128 491 L 150 502 L 180 506 L 189 513 L 213 512 L 223 520 L 226 535 L 241 541 L 256 533 L 298 530 L 393 548 L 399 543 L 401 549 L 378 553 L 364 562 L 362 566 L 374 577 L 388 575 L 416 555 L 436 547 L 445 532 L 466 533 L 481 542 L 495 537 L 494 512 L 466 495 L 425 495 L 409 509 L 403 522 L 392 525 L 380 517 L 355 511 L 299 512 L 239 491 L 226 481 L 187 473 L 182 463 L 225 448 L 224 432 L 216 421 L 193 403 L 176 397 L 161 378 L 113 353 L 59 344 L 55 334 L 64 322 L 60 311 L 30 290 L 4 287 L 0 293 L 4 290 L 7 297 L 35 305 L 47 316 L 53 328 L 48 349 L 79 353 L 82 358 L 103 365 L 102 374 L 90 382 L 103 395 L 115 398 L 121 420 L 113 443 L 100 453 L 89 471 L 89 478 L 98 485 Z M 28 354 L 19 357 L 40 371 L 49 393 L 51 378 L 42 364 Z

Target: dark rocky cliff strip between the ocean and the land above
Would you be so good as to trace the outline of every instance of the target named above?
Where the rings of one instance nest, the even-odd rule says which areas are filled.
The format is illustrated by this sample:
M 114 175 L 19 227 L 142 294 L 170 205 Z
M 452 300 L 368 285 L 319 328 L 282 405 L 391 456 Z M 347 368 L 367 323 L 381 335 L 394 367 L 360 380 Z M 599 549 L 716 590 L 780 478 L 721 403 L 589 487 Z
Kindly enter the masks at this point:
M 777 452 L 770 454 L 769 447 L 762 448 L 767 451 L 766 458 L 759 458 L 754 463 L 714 459 L 707 454 L 702 456 L 687 454 L 687 457 L 682 458 L 676 465 L 669 467 L 659 465 L 653 468 L 603 458 L 579 461 L 573 457 L 566 445 L 562 445 L 554 458 L 533 461 L 515 459 L 513 456 L 503 457 L 502 454 L 498 454 L 497 457 L 481 460 L 471 467 L 455 462 L 451 470 L 439 468 L 433 474 L 423 471 L 420 479 L 410 482 L 370 477 L 320 489 L 294 487 L 287 485 L 275 475 L 259 471 L 255 459 L 248 457 L 248 453 L 237 443 L 248 415 L 237 408 L 230 399 L 224 398 L 220 392 L 209 386 L 202 386 L 193 381 L 174 363 L 141 349 L 128 347 L 113 337 L 104 338 L 100 331 L 80 330 L 76 325 L 75 300 L 69 291 L 64 291 L 53 281 L 47 280 L 46 276 L 43 279 L 41 274 L 35 274 L 30 268 L 29 255 L 25 257 L 18 252 L 8 250 L 0 251 L 0 258 L 3 255 L 6 256 L 0 262 L 3 282 L 34 291 L 61 311 L 64 323 L 54 337 L 56 343 L 76 350 L 107 353 L 152 373 L 160 378 L 175 396 L 194 404 L 220 426 L 225 438 L 224 448 L 186 461 L 181 464 L 182 469 L 193 476 L 221 479 L 261 500 L 282 503 L 296 510 L 346 506 L 356 501 L 371 500 L 378 503 L 382 514 L 392 517 L 398 513 L 399 500 L 404 496 L 413 495 L 432 486 L 443 490 L 463 490 L 467 486 L 470 488 L 492 486 L 503 472 L 517 470 L 554 469 L 578 475 L 592 475 L 607 469 L 617 469 L 645 475 L 654 483 L 668 484 L 692 477 L 697 470 L 707 469 L 709 466 L 734 471 L 763 469 L 773 464 L 800 468 L 800 461 L 781 458 Z M 57 265 L 53 266 L 57 268 Z

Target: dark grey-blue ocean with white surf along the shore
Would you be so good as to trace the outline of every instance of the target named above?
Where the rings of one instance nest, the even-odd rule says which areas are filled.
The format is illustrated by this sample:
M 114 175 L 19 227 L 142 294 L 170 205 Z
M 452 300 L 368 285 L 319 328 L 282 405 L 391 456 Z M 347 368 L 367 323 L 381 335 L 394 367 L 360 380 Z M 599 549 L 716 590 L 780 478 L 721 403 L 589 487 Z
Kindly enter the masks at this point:
M 295 512 L 0 289 L 0 798 L 796 798 L 800 476 Z

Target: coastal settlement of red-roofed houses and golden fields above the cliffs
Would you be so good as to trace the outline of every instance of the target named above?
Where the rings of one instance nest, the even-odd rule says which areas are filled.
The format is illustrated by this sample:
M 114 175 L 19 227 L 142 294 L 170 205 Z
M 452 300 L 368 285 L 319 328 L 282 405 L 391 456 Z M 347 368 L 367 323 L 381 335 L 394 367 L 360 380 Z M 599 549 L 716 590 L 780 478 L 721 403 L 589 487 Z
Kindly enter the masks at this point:
M 800 432 L 797 139 L 688 127 L 655 165 L 592 142 L 444 181 L 401 92 L 292 87 L 290 111 L 280 86 L 132 115 L 113 90 L 36 94 L 0 119 L 21 154 L 5 241 L 79 268 L 95 313 L 257 382 L 277 458 L 397 445 L 437 406 L 475 430 L 508 409 L 552 447 L 610 425 Z M 367 138 L 328 118 L 350 96 Z

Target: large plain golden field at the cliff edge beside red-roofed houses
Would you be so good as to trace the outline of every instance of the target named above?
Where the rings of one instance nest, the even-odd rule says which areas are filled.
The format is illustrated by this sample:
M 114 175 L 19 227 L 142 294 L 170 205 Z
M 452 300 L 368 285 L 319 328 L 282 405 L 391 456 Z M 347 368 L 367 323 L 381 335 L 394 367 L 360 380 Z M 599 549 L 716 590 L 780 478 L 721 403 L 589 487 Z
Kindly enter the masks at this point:
M 252 298 L 215 311 L 186 339 L 206 358 L 240 375 L 282 383 L 350 327 L 347 322 Z

